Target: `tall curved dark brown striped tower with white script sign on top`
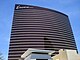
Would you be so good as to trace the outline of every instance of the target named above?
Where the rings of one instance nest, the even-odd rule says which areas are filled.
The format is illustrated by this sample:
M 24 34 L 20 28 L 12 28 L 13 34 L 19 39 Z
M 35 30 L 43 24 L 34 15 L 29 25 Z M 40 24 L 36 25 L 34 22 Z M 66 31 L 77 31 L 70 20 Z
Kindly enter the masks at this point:
M 77 50 L 68 16 L 47 8 L 17 4 L 8 60 L 18 60 L 28 48 Z

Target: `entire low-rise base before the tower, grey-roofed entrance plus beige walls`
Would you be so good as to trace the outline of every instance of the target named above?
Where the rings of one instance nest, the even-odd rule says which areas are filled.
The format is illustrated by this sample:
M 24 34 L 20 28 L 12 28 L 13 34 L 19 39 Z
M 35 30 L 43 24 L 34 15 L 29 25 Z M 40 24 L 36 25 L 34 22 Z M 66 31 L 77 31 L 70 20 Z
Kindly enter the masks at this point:
M 19 60 L 80 60 L 76 50 L 60 49 L 59 54 L 52 56 L 54 53 L 56 51 L 29 48 Z

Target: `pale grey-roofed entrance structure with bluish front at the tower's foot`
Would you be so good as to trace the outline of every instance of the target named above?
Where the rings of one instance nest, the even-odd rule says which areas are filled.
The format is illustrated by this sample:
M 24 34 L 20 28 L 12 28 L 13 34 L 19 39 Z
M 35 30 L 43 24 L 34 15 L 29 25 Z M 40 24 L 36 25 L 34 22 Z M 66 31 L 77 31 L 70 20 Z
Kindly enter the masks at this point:
M 29 48 L 23 55 L 21 55 L 21 60 L 52 60 L 49 55 L 52 52 L 55 51 Z

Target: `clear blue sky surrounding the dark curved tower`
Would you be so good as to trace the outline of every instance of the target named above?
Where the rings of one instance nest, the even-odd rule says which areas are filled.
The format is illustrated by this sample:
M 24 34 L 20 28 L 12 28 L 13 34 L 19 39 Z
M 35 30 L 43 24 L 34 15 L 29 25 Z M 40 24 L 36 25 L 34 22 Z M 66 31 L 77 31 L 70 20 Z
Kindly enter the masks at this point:
M 80 0 L 1 0 L 0 1 L 0 52 L 8 59 L 10 34 L 15 4 L 35 5 L 67 14 L 80 54 Z

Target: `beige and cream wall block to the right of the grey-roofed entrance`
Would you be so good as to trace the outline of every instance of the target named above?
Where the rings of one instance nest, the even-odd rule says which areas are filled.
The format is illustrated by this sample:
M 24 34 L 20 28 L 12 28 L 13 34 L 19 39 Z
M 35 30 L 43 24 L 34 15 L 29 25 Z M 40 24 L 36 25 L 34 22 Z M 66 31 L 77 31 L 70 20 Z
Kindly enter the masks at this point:
M 80 55 L 76 50 L 60 50 L 58 55 L 52 57 L 53 60 L 80 60 Z

